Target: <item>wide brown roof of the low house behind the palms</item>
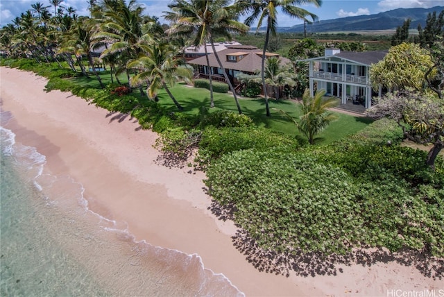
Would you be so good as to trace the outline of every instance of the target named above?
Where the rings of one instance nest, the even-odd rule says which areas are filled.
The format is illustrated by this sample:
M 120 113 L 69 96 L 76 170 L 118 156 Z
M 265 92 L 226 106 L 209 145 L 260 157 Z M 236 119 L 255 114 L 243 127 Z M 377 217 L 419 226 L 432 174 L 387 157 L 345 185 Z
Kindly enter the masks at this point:
M 219 51 L 217 55 L 219 56 L 219 59 L 221 59 L 223 68 L 225 69 L 232 69 L 244 72 L 255 72 L 261 69 L 262 63 L 262 52 L 260 54 L 257 54 L 258 51 L 259 49 L 257 49 L 256 46 L 228 46 L 227 49 Z M 241 60 L 237 62 L 227 61 L 226 56 L 240 56 L 240 53 L 242 54 L 242 56 L 244 56 L 244 58 L 242 58 Z M 209 54 L 208 60 L 210 60 L 210 67 L 219 67 L 219 63 L 217 62 L 214 54 Z M 287 64 L 290 62 L 290 60 L 287 58 L 280 58 L 280 60 L 282 64 Z M 190 60 L 188 61 L 188 63 L 192 65 L 207 66 L 207 60 L 205 56 Z

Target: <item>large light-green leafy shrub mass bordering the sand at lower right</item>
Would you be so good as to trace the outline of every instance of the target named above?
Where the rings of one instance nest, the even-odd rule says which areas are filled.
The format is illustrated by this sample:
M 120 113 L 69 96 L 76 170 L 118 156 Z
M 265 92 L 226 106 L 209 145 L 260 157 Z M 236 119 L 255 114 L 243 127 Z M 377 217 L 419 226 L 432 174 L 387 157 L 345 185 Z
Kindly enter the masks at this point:
M 418 191 L 395 176 L 364 181 L 316 154 L 253 149 L 212 162 L 205 183 L 264 249 L 330 254 L 407 246 L 444 255 L 442 187 Z

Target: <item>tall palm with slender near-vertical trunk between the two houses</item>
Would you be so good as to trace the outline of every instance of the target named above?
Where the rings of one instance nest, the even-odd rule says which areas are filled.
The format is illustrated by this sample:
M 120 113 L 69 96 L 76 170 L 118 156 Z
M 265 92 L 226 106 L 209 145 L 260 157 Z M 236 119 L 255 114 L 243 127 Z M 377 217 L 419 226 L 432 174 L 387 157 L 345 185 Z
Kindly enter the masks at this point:
M 265 35 L 265 43 L 264 49 L 262 51 L 262 65 L 261 65 L 261 77 L 262 77 L 262 88 L 264 90 L 264 99 L 265 99 L 265 107 L 266 107 L 266 116 L 270 117 L 270 108 L 268 106 L 268 98 L 266 94 L 266 83 L 265 83 L 265 53 L 266 48 L 268 46 L 268 40 L 270 39 L 270 33 L 276 35 L 276 28 L 278 26 L 278 10 L 280 7 L 282 12 L 285 15 L 289 15 L 290 17 L 295 17 L 297 19 L 302 19 L 307 21 L 308 17 L 311 17 L 313 21 L 317 19 L 316 15 L 311 12 L 308 12 L 305 9 L 298 8 L 298 5 L 312 3 L 315 6 L 321 6 L 321 0 L 237 0 L 235 6 L 237 9 L 243 14 L 250 14 L 246 20 L 245 24 L 248 26 L 257 22 L 257 31 L 262 26 L 262 22 L 266 18 L 266 35 Z

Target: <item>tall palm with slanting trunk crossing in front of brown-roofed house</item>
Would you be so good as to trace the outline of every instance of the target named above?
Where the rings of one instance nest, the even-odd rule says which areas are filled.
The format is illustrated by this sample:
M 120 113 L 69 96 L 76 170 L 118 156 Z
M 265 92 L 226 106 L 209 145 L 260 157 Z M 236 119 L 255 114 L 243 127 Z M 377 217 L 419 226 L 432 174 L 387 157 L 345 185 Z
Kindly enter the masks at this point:
M 221 59 L 214 46 L 214 36 L 225 36 L 232 39 L 231 32 L 246 33 L 248 26 L 237 22 L 237 13 L 229 6 L 228 0 L 175 0 L 169 5 L 172 12 L 167 12 L 166 19 L 174 21 L 170 31 L 173 33 L 188 32 L 194 35 L 195 46 L 210 42 L 223 76 L 230 87 L 239 114 L 242 113 L 236 92 L 226 73 Z

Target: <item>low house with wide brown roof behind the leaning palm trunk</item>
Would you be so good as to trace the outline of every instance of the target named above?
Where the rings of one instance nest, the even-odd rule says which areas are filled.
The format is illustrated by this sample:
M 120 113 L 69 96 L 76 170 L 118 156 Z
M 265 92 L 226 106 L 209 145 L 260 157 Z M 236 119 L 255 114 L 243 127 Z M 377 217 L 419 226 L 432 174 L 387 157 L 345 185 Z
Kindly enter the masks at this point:
M 242 44 L 232 44 L 226 47 L 226 49 L 218 51 L 217 54 L 234 87 L 239 85 L 237 80 L 238 74 L 256 74 L 257 71 L 260 71 L 262 49 Z M 280 57 L 278 53 L 266 52 L 265 55 L 266 58 L 279 58 L 282 65 L 291 62 L 287 58 Z M 213 53 L 208 54 L 208 60 L 210 60 L 210 69 L 208 69 L 205 55 L 188 61 L 188 64 L 193 65 L 196 69 L 196 78 L 208 78 L 211 75 L 214 80 L 225 81 L 222 69 L 219 67 L 219 63 Z

